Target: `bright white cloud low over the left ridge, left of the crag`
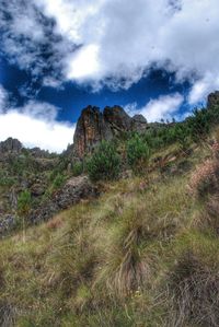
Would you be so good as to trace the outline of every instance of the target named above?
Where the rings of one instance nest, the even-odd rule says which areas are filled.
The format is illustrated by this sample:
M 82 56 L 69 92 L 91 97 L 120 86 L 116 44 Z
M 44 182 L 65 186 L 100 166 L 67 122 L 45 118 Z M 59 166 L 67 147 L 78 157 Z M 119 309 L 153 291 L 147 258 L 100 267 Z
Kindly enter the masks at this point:
M 0 86 L 0 141 L 12 137 L 27 148 L 39 147 L 58 153 L 72 143 L 74 125 L 57 121 L 57 107 L 31 101 L 4 112 L 5 100 L 7 92 Z

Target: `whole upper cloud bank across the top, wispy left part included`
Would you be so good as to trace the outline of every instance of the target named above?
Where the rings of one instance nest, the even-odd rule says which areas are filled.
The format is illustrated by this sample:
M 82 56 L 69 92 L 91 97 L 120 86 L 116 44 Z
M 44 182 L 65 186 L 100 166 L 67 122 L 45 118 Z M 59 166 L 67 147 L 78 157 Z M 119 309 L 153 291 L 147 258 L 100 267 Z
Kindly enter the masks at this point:
M 219 79 L 218 0 L 0 0 L 3 49 L 44 82 L 128 89 L 151 66 L 193 83 Z M 10 21 L 9 21 L 10 16 Z M 218 87 L 219 83 L 214 83 Z

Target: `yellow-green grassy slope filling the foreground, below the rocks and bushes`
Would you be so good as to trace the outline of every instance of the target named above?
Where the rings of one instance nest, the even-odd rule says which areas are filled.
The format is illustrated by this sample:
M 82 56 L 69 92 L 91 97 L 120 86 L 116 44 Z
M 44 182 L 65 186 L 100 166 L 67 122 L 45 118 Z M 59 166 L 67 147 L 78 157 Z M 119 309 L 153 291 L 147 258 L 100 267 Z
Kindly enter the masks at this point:
M 2 240 L 1 325 L 219 326 L 217 135 Z

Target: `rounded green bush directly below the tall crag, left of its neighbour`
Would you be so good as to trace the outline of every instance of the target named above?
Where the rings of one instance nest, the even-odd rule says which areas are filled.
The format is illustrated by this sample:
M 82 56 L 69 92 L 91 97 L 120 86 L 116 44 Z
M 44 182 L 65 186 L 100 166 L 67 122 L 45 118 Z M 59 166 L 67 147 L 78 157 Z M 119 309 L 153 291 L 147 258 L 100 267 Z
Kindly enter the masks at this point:
M 87 163 L 92 180 L 116 179 L 120 170 L 120 157 L 112 142 L 103 141 Z

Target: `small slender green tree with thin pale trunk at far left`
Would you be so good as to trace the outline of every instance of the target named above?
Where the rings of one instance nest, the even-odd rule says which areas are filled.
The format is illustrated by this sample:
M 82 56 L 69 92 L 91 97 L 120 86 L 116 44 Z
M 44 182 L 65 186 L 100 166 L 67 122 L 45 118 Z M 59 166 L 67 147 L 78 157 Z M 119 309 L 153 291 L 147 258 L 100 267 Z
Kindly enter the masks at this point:
M 18 213 L 22 218 L 23 242 L 25 242 L 25 222 L 31 210 L 31 192 L 28 190 L 22 191 L 18 198 Z

